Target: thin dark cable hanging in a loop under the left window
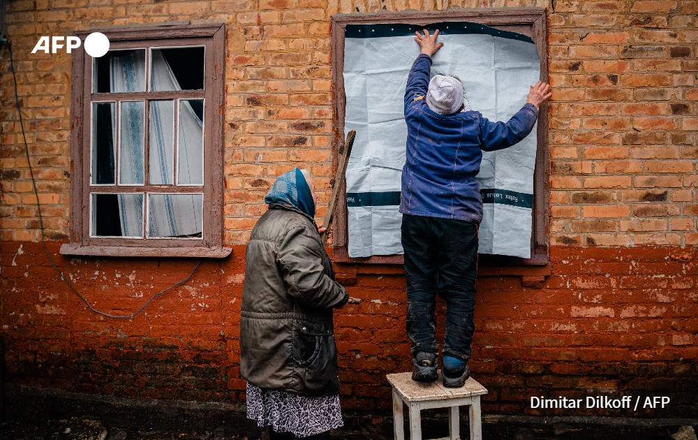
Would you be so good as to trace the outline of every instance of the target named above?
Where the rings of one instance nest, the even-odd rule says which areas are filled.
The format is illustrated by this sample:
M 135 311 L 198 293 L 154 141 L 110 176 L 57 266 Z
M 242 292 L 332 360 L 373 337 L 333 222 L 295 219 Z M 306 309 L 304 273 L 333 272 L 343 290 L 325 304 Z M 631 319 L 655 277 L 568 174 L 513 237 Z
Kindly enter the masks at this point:
M 70 281 L 68 281 L 68 279 L 66 279 L 66 276 L 63 274 L 63 272 L 61 272 L 61 270 L 58 268 L 56 263 L 54 263 L 53 258 L 51 258 L 51 254 L 49 253 L 49 251 L 46 247 L 46 241 L 44 238 L 43 217 L 41 216 L 41 204 L 39 202 L 39 194 L 38 194 L 38 191 L 36 189 L 36 179 L 34 179 L 34 170 L 31 168 L 31 160 L 30 160 L 30 156 L 29 156 L 29 145 L 27 145 L 27 135 L 26 135 L 26 133 L 24 133 L 24 121 L 22 119 L 22 109 L 20 108 L 20 96 L 19 96 L 19 94 L 17 94 L 17 75 L 15 74 L 15 61 L 14 61 L 13 54 L 12 54 L 12 43 L 10 43 L 9 41 L 6 41 L 6 39 L 3 38 L 2 43 L 6 43 L 6 42 L 7 42 L 8 50 L 10 52 L 10 68 L 12 69 L 12 76 L 13 76 L 13 80 L 15 82 L 15 103 L 17 105 L 17 114 L 20 116 L 20 127 L 22 128 L 22 138 L 24 139 L 24 153 L 27 155 L 27 166 L 29 166 L 29 176 L 31 177 L 31 184 L 34 187 L 34 195 L 36 196 L 36 209 L 38 211 L 39 228 L 41 230 L 41 244 L 43 246 L 43 250 L 44 250 L 46 256 L 48 257 L 48 261 L 50 261 L 51 265 L 56 270 L 56 272 L 58 272 L 58 274 L 61 276 L 61 279 L 66 283 L 68 288 L 70 288 L 70 290 L 73 291 L 73 293 L 75 293 L 75 295 L 77 295 L 87 305 L 87 307 L 89 307 L 89 309 L 91 309 L 91 311 L 94 311 L 96 314 L 100 314 L 102 316 L 107 316 L 108 318 L 120 318 L 120 319 L 133 318 L 134 316 L 140 314 L 140 312 L 143 311 L 145 309 L 145 307 L 147 307 L 147 305 L 149 305 L 152 300 L 154 300 L 158 296 L 162 295 L 163 293 L 170 291 L 172 288 L 175 288 L 181 284 L 186 283 L 186 281 L 191 279 L 191 277 L 193 277 L 193 275 L 194 275 L 194 272 L 196 272 L 196 270 L 199 268 L 201 263 L 203 263 L 203 260 L 200 260 L 198 263 L 196 263 L 196 265 L 194 266 L 194 269 L 191 271 L 191 274 L 189 274 L 188 277 L 186 277 L 185 279 L 182 279 L 178 283 L 173 284 L 172 286 L 170 286 L 168 288 L 165 288 L 163 291 L 160 291 L 160 292 L 156 293 L 155 295 L 151 296 L 151 298 L 149 300 L 147 300 L 147 302 L 143 305 L 143 307 L 141 307 L 140 309 L 138 309 L 138 311 L 136 311 L 135 313 L 130 314 L 130 315 L 112 315 L 112 314 L 105 313 L 103 311 L 99 311 L 99 310 L 95 309 L 94 307 L 92 307 L 90 305 L 89 301 L 87 301 L 87 299 L 85 299 L 84 296 L 80 295 L 80 292 L 75 290 L 75 287 L 73 287 L 73 284 L 70 284 Z M 1 45 L 0 45 L 0 47 L 1 47 Z

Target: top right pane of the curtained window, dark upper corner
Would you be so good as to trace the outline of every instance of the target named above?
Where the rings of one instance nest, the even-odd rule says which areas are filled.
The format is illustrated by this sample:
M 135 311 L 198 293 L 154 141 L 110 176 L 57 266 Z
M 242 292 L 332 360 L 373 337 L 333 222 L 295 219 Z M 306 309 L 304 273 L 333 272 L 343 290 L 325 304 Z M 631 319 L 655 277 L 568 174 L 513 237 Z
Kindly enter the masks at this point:
M 152 91 L 203 90 L 204 47 L 151 50 Z

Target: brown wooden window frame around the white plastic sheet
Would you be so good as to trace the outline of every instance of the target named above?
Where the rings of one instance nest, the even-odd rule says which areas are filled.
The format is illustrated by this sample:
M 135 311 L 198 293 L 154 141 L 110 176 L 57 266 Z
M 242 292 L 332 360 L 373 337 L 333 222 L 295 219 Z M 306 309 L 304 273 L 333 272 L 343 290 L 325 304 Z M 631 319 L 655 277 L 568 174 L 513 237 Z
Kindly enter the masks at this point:
M 346 95 L 344 94 L 344 33 L 348 24 L 407 23 L 426 25 L 434 22 L 465 21 L 487 24 L 497 29 L 519 32 L 533 39 L 540 57 L 540 79 L 548 78 L 546 15 L 544 8 L 478 8 L 447 11 L 380 12 L 368 14 L 332 15 L 332 94 L 334 103 L 333 123 L 335 127 L 332 149 L 339 156 L 343 144 Z M 415 48 L 415 58 L 417 57 Z M 533 185 L 533 225 L 530 258 L 512 256 L 480 255 L 480 263 L 496 266 L 547 265 L 548 264 L 548 219 L 549 219 L 549 147 L 548 108 L 543 104 L 538 114 L 537 153 Z M 336 159 L 335 159 L 336 161 Z M 336 166 L 336 163 L 335 163 Z M 346 184 L 342 189 L 346 200 Z M 370 256 L 352 258 L 348 253 L 348 216 L 346 201 L 339 203 L 334 224 L 334 261 L 338 263 L 393 263 L 402 264 L 402 255 Z M 507 271 L 504 271 L 507 272 Z M 518 270 L 511 270 L 518 273 Z

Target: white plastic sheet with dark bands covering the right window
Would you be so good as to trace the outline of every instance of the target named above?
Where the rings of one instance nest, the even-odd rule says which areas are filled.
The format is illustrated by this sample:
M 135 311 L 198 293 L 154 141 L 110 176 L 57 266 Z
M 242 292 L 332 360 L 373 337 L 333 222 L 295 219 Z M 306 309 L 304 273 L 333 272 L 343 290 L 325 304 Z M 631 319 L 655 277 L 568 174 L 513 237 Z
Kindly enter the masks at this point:
M 347 168 L 349 256 L 402 254 L 399 191 L 407 126 L 403 97 L 419 54 L 409 24 L 348 25 L 344 51 L 346 133 L 357 136 Z M 442 22 L 444 47 L 431 74 L 456 75 L 466 107 L 492 121 L 510 119 L 540 78 L 530 38 L 482 24 Z M 530 257 L 531 204 L 537 137 L 508 149 L 484 152 L 477 179 L 484 201 L 480 253 Z

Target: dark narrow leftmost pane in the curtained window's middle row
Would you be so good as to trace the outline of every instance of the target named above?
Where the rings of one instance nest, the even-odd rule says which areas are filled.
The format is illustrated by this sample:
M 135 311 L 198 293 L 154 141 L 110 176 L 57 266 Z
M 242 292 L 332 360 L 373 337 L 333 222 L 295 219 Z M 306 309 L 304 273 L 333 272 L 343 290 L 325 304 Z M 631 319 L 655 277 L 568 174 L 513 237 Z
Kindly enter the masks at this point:
M 92 168 L 94 185 L 114 184 L 114 145 L 117 136 L 117 112 L 114 103 L 92 104 Z

